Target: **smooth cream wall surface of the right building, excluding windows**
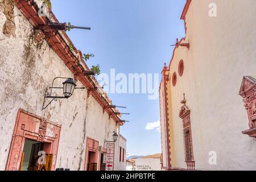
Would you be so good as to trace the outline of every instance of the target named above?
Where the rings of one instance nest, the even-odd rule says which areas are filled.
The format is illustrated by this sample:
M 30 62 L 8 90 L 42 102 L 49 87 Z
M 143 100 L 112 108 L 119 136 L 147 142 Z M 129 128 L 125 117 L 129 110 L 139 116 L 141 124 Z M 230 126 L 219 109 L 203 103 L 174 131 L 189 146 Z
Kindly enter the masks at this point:
M 238 96 L 242 77 L 256 77 L 256 1 L 216 0 L 217 17 L 208 16 L 210 0 L 192 0 L 187 20 L 190 50 L 179 47 L 171 63 L 184 75 L 171 87 L 176 166 L 185 168 L 180 101 L 186 94 L 191 109 L 196 169 L 256 169 L 256 139 L 243 135 L 248 119 Z M 171 78 L 170 78 L 171 79 Z M 217 165 L 208 163 L 217 152 Z

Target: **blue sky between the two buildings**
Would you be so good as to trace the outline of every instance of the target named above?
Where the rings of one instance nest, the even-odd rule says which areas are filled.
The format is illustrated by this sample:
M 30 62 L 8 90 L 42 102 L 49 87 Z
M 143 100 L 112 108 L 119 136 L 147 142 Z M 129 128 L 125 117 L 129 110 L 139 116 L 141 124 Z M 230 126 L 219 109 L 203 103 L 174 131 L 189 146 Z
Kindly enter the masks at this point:
M 52 9 L 60 22 L 91 27 L 72 30 L 69 37 L 83 53 L 95 57 L 87 64 L 100 64 L 101 73 L 160 73 L 170 62 L 176 38 L 184 37 L 180 20 L 185 0 L 53 0 Z M 159 78 L 160 80 L 160 78 Z M 159 87 L 159 85 L 157 86 Z M 147 123 L 160 120 L 159 100 L 147 94 L 108 94 L 115 105 L 131 115 L 121 128 L 129 155 L 161 152 L 160 132 L 146 130 Z

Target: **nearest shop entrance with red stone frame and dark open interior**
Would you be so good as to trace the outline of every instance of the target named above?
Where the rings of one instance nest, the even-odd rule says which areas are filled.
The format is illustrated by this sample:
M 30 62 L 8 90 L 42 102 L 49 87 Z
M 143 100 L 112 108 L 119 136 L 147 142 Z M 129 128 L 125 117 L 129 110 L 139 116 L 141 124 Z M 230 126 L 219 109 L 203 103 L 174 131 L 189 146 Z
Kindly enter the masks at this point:
M 38 170 L 36 167 L 38 164 L 36 162 L 37 158 L 40 157 L 38 156 L 39 151 L 44 151 L 44 154 L 46 154 L 47 165 L 43 165 L 42 169 L 46 168 L 46 171 L 54 170 L 59 145 L 60 127 L 56 123 L 19 109 L 13 138 L 11 139 L 6 170 Z

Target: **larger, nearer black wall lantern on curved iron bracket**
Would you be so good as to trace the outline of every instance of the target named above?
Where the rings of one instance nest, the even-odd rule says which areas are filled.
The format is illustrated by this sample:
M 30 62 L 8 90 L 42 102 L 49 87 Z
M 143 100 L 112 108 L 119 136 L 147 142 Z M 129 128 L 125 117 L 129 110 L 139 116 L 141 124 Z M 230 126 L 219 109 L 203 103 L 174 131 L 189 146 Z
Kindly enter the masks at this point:
M 62 87 L 53 87 L 54 81 L 57 79 L 66 79 L 62 84 Z M 46 109 L 53 100 L 57 101 L 57 98 L 66 98 L 68 99 L 69 97 L 72 96 L 73 92 L 75 89 L 85 89 L 84 87 L 82 88 L 76 88 L 76 83 L 73 80 L 73 78 L 65 78 L 65 77 L 56 77 L 52 81 L 52 86 L 49 88 L 51 91 L 48 93 L 46 90 L 46 94 L 44 95 L 44 103 L 43 103 L 43 109 Z M 52 89 L 63 89 L 63 96 L 52 96 Z M 46 98 L 52 98 L 52 100 L 44 106 L 46 102 Z

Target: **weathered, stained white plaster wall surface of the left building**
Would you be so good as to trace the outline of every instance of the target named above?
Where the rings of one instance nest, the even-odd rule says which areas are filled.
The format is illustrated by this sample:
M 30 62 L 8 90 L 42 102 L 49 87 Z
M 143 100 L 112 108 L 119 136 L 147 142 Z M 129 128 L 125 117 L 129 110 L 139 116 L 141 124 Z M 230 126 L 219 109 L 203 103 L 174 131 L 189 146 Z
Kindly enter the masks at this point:
M 6 31 L 7 19 L 13 14 L 21 16 L 12 18 L 11 27 L 15 28 Z M 0 52 L 0 170 L 6 166 L 19 108 L 60 124 L 56 167 L 83 170 L 86 137 L 104 146 L 107 132 L 117 130 L 113 119 L 103 114 L 102 107 L 92 96 L 87 96 L 86 89 L 75 90 L 68 100 L 57 100 L 42 110 L 44 93 L 53 78 L 73 75 L 46 41 L 35 42 L 28 20 L 15 6 L 3 0 L 0 4 Z M 77 82 L 77 86 L 82 85 Z M 116 148 L 118 150 L 118 146 Z

